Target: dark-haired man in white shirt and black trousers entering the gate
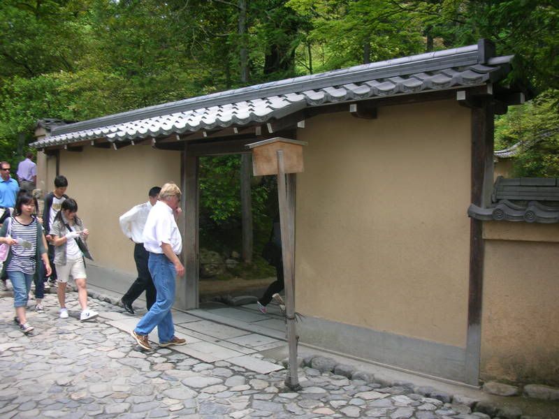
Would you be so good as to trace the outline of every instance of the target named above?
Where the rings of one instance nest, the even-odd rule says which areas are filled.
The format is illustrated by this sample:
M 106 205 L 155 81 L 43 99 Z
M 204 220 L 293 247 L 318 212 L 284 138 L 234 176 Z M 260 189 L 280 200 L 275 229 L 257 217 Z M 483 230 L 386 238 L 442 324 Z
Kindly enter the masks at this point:
M 148 201 L 147 203 L 135 205 L 131 210 L 122 214 L 119 218 L 120 229 L 122 233 L 134 244 L 134 262 L 136 262 L 136 270 L 138 271 L 138 278 L 132 283 L 126 294 L 122 296 L 120 300 L 126 311 L 130 314 L 134 314 L 134 309 L 132 308 L 133 302 L 145 291 L 145 305 L 149 310 L 155 302 L 156 291 L 153 285 L 152 276 L 150 270 L 147 268 L 147 258 L 149 253 L 144 248 L 143 243 L 143 231 L 145 227 L 145 221 L 147 221 L 147 215 L 150 214 L 150 210 L 157 203 L 157 198 L 159 197 L 159 191 L 161 188 L 159 186 L 154 186 L 147 193 Z

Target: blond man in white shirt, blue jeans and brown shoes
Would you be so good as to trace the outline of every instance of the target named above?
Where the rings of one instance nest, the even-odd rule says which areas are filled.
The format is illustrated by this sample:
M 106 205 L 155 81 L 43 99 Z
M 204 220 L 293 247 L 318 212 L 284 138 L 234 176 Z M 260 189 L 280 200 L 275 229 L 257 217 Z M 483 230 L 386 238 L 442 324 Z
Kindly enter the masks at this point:
M 159 200 L 147 216 L 143 233 L 145 249 L 150 253 L 147 266 L 157 290 L 157 300 L 140 319 L 131 335 L 138 345 L 151 351 L 148 336 L 157 326 L 159 346 L 184 345 L 175 336 L 171 308 L 175 302 L 175 277 L 184 275 L 184 266 L 177 255 L 182 251 L 182 237 L 175 221 L 180 214 L 181 192 L 174 183 L 166 183 L 159 192 Z

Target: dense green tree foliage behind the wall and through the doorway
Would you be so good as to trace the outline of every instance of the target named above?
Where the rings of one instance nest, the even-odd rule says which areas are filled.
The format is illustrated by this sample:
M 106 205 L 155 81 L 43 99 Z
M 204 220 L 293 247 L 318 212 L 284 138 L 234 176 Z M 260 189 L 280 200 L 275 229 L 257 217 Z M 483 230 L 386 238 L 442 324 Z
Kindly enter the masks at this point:
M 558 16 L 552 0 L 3 0 L 0 153 L 17 164 L 41 118 L 89 119 L 488 38 L 516 54 L 509 82 L 544 92 L 498 120 L 498 144 L 537 136 L 519 172 L 557 175 L 556 131 L 539 133 L 557 126 Z M 211 223 L 238 223 L 235 170 L 236 156 L 203 164 Z M 257 225 L 267 191 L 253 192 Z

